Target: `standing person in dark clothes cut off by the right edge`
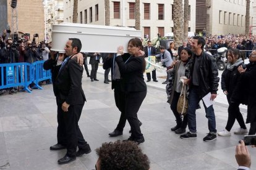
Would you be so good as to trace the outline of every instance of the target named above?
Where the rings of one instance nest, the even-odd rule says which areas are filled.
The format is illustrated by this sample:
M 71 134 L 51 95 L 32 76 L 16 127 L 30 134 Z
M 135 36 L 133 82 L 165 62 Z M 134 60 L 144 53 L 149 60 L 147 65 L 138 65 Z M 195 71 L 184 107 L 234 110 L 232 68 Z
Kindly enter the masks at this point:
M 252 51 L 249 55 L 250 63 L 246 65 L 246 69 L 238 68 L 241 73 L 241 83 L 247 87 L 247 119 L 246 123 L 250 123 L 249 135 L 256 133 L 256 51 Z

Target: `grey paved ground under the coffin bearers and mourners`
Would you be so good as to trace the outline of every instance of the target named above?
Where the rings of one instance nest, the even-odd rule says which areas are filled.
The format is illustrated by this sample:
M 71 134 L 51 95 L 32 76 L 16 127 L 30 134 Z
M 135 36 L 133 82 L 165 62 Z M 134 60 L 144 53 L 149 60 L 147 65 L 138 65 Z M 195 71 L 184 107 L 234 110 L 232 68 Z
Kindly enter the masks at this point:
M 90 65 L 88 67 L 90 69 Z M 102 67 L 99 67 L 99 72 L 97 78 L 100 81 L 91 82 L 84 71 L 82 82 L 87 103 L 83 107 L 79 126 L 92 153 L 69 164 L 57 163 L 66 150 L 49 150 L 51 145 L 56 144 L 57 120 L 56 100 L 52 84 L 48 84 L 43 86 L 43 90 L 34 89 L 32 94 L 19 92 L 0 96 L 0 169 L 94 169 L 96 148 L 103 142 L 127 139 L 130 135 L 128 123 L 123 136 L 108 136 L 116 127 L 120 113 L 114 103 L 111 84 L 103 83 Z M 157 72 L 156 76 L 165 74 Z M 239 127 L 237 122 L 231 136 L 203 142 L 208 126 L 205 111 L 199 109 L 197 139 L 180 139 L 179 135 L 170 131 L 176 124 L 175 118 L 166 102 L 165 85 L 161 84 L 164 79 L 158 78 L 158 81 L 147 83 L 147 97 L 138 113 L 145 137 L 145 142 L 139 146 L 150 158 L 151 169 L 237 169 L 235 146 L 243 138 L 233 134 L 234 129 Z M 226 126 L 228 107 L 226 96 L 222 91 L 218 93 L 214 108 L 217 131 L 221 131 Z M 245 119 L 246 107 L 242 106 L 241 110 Z M 249 147 L 249 151 L 252 169 L 256 169 L 256 149 Z

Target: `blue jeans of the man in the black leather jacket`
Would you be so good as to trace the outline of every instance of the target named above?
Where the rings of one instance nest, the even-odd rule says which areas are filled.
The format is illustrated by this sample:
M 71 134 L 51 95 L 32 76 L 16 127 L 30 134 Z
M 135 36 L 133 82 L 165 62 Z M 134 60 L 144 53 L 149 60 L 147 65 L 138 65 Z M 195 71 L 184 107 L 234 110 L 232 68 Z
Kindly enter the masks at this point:
M 200 88 L 191 87 L 189 94 L 189 108 L 187 111 L 187 119 L 189 125 L 189 131 L 192 133 L 197 132 L 197 121 L 195 116 L 195 110 L 198 107 L 198 103 L 200 102 Z M 208 129 L 210 133 L 216 133 L 216 121 L 215 121 L 215 113 L 213 110 L 213 105 L 210 107 L 206 107 L 205 103 L 203 103 L 203 107 L 205 107 L 206 117 L 208 118 Z

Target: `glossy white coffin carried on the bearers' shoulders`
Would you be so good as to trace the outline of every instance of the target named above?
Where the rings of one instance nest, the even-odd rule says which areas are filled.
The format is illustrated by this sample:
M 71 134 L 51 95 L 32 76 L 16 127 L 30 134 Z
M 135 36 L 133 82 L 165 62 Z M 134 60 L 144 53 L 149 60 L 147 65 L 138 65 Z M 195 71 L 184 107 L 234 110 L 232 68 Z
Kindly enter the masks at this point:
M 52 50 L 64 51 L 69 38 L 79 38 L 81 52 L 117 52 L 118 46 L 124 46 L 127 52 L 128 42 L 140 38 L 141 31 L 119 26 L 88 25 L 80 23 L 61 23 L 53 25 Z

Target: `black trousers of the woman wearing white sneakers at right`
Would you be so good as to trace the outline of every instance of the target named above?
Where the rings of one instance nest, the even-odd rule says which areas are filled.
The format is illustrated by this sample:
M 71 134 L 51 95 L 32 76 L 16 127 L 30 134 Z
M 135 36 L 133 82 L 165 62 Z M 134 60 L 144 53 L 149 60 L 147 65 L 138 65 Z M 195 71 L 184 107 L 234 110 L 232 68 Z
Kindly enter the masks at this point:
M 234 122 L 237 119 L 237 122 L 239 123 L 240 127 L 243 129 L 246 129 L 245 123 L 244 123 L 244 118 L 242 117 L 242 113 L 240 112 L 239 109 L 239 103 L 232 103 L 229 102 L 229 107 L 228 107 L 228 122 L 226 125 L 226 130 L 230 131 L 234 125 Z

